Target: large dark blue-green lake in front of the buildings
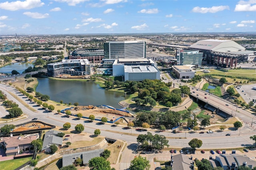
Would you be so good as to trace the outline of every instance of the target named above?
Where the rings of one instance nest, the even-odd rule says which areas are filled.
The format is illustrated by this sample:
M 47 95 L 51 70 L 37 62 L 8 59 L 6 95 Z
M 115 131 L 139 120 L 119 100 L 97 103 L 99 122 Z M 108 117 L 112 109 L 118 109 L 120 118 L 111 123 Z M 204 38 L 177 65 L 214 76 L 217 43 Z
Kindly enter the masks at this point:
M 118 102 L 128 98 L 123 92 L 111 92 L 100 88 L 94 82 L 89 81 L 65 81 L 52 80 L 50 78 L 38 78 L 37 92 L 50 96 L 50 100 L 63 101 L 68 104 L 78 102 L 80 106 L 108 105 L 122 108 Z

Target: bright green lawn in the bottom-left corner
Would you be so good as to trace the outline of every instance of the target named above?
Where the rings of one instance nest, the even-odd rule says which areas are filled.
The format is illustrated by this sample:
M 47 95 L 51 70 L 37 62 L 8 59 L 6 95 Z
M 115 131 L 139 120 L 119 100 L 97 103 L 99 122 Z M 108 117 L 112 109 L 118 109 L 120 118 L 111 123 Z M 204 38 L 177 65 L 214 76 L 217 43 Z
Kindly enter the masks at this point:
M 26 162 L 30 161 L 31 158 L 32 157 L 1 161 L 0 169 L 1 170 L 14 170 L 14 169 L 18 168 L 19 166 L 22 166 Z

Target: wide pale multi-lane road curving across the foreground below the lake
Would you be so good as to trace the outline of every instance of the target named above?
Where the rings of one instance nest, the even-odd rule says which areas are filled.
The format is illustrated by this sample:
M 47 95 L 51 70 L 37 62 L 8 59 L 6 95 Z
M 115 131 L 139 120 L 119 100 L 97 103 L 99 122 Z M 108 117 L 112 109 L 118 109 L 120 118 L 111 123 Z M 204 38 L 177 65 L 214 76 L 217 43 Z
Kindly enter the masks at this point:
M 0 90 L 2 90 L 2 92 L 4 92 L 4 94 L 7 95 L 8 100 L 13 100 L 14 102 L 16 102 L 19 105 L 19 107 L 22 109 L 22 111 L 26 115 L 28 115 L 27 118 L 21 119 L 19 121 L 10 122 L 10 124 L 25 123 L 30 121 L 34 117 L 37 117 L 39 121 L 50 123 L 60 128 L 66 122 L 71 123 L 72 125 L 71 129 L 74 129 L 75 125 L 77 125 L 78 123 L 81 123 L 81 124 L 84 124 L 85 126 L 84 132 L 86 133 L 93 134 L 95 129 L 100 129 L 101 136 L 105 136 L 113 139 L 120 139 L 128 143 L 137 143 L 136 135 L 146 133 L 146 132 L 137 132 L 134 128 L 125 130 L 125 129 L 122 129 L 122 126 L 111 127 L 109 123 L 105 123 L 104 125 L 98 125 L 96 121 L 94 121 L 93 123 L 86 123 L 86 119 L 74 120 L 72 117 L 67 118 L 66 116 L 64 116 L 64 114 L 60 115 L 54 112 L 51 113 L 51 112 L 45 111 L 44 109 L 42 109 L 42 107 L 38 107 L 36 104 L 29 102 L 26 96 L 19 93 L 18 90 L 16 90 L 12 86 L 0 84 Z M 204 95 L 204 93 L 202 94 L 201 91 L 199 91 L 198 93 L 200 95 Z M 22 104 L 19 100 L 17 100 L 16 96 L 19 100 L 24 100 L 23 103 L 25 105 Z M 215 100 L 214 97 L 211 98 L 211 100 Z M 224 104 L 225 103 L 223 102 L 220 103 L 220 105 L 224 105 Z M 30 108 L 34 109 L 35 111 L 31 111 Z M 232 106 L 229 109 L 232 109 Z M 2 127 L 5 124 L 6 123 L 1 123 L 0 126 Z M 187 131 L 185 133 L 183 132 L 183 133 L 174 134 L 174 133 L 171 133 L 171 131 L 159 132 L 155 129 L 148 129 L 148 131 L 150 131 L 153 135 L 154 134 L 165 135 L 166 138 L 169 140 L 168 144 L 171 147 L 180 147 L 180 148 L 188 147 L 188 142 L 191 139 L 198 138 L 203 142 L 203 145 L 201 147 L 203 149 L 210 149 L 210 148 L 221 149 L 221 148 L 235 148 L 235 147 L 248 146 L 254 143 L 254 141 L 252 141 L 249 137 L 252 135 L 255 135 L 256 133 L 255 129 L 252 129 L 250 127 L 250 124 L 245 124 L 241 128 L 240 135 L 239 135 L 239 130 L 214 132 L 212 134 L 207 134 L 207 133 L 199 134 L 198 132 L 189 133 Z M 226 133 L 231 133 L 231 136 L 225 136 Z

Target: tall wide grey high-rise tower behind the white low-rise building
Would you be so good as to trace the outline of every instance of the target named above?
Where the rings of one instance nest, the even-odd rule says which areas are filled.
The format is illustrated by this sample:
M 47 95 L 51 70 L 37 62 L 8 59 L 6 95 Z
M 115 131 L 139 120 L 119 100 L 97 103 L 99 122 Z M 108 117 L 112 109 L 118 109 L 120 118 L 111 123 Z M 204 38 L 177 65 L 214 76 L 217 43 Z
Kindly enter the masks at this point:
M 146 41 L 107 41 L 105 59 L 146 58 Z

